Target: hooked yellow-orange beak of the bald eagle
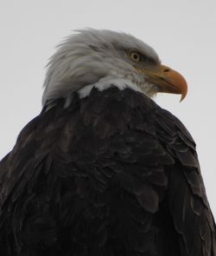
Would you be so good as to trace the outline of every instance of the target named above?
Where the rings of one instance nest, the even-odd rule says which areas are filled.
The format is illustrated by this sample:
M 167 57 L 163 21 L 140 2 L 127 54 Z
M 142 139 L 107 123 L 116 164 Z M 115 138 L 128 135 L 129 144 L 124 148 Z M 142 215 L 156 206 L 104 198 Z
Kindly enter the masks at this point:
M 156 69 L 143 71 L 148 82 L 158 85 L 158 92 L 181 95 L 181 101 L 187 95 L 187 82 L 174 69 L 159 65 Z

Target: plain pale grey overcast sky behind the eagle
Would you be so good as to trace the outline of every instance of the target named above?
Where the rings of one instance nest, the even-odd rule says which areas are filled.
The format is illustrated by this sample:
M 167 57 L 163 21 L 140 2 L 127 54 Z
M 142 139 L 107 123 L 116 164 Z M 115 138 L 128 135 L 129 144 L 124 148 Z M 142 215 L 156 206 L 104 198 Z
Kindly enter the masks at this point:
M 216 1 L 0 0 L 0 158 L 41 111 L 42 82 L 54 46 L 72 30 L 122 30 L 149 43 L 188 83 L 186 99 L 158 95 L 197 143 L 216 216 Z

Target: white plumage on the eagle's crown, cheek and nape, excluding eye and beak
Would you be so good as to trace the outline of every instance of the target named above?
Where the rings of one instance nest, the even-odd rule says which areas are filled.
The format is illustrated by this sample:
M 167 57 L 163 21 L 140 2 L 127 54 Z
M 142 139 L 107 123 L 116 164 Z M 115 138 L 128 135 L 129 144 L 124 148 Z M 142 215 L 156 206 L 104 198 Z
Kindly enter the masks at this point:
M 48 62 L 42 104 L 67 97 L 100 79 L 126 79 L 142 83 L 125 54 L 125 49 L 137 49 L 159 62 L 154 49 L 134 36 L 111 30 L 79 30 L 60 43 Z

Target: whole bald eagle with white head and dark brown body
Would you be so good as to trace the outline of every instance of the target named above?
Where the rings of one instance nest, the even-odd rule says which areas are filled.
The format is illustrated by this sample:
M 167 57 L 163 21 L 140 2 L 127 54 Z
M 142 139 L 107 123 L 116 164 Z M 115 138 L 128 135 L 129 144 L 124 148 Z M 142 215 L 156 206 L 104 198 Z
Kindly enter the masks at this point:
M 213 256 L 195 143 L 151 98 L 187 82 L 134 36 L 80 30 L 0 162 L 0 255 Z

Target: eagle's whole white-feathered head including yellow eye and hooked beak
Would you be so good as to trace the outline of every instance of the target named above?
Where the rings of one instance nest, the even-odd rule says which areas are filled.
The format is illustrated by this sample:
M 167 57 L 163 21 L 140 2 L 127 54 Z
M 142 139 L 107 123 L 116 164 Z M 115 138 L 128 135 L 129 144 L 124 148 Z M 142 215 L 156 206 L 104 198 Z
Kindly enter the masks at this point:
M 187 95 L 187 82 L 162 65 L 156 51 L 129 34 L 111 30 L 79 30 L 57 47 L 48 62 L 43 105 L 92 87 L 130 87 L 152 97 L 158 92 Z

